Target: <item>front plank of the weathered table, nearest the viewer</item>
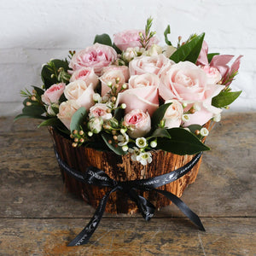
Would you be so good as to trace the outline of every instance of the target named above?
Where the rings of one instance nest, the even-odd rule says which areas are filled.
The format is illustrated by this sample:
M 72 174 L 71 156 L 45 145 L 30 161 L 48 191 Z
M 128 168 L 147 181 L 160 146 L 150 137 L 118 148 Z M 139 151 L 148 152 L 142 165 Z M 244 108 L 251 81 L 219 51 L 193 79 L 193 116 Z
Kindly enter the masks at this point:
M 254 255 L 255 218 L 103 218 L 89 244 L 67 247 L 88 219 L 1 219 L 0 255 Z

